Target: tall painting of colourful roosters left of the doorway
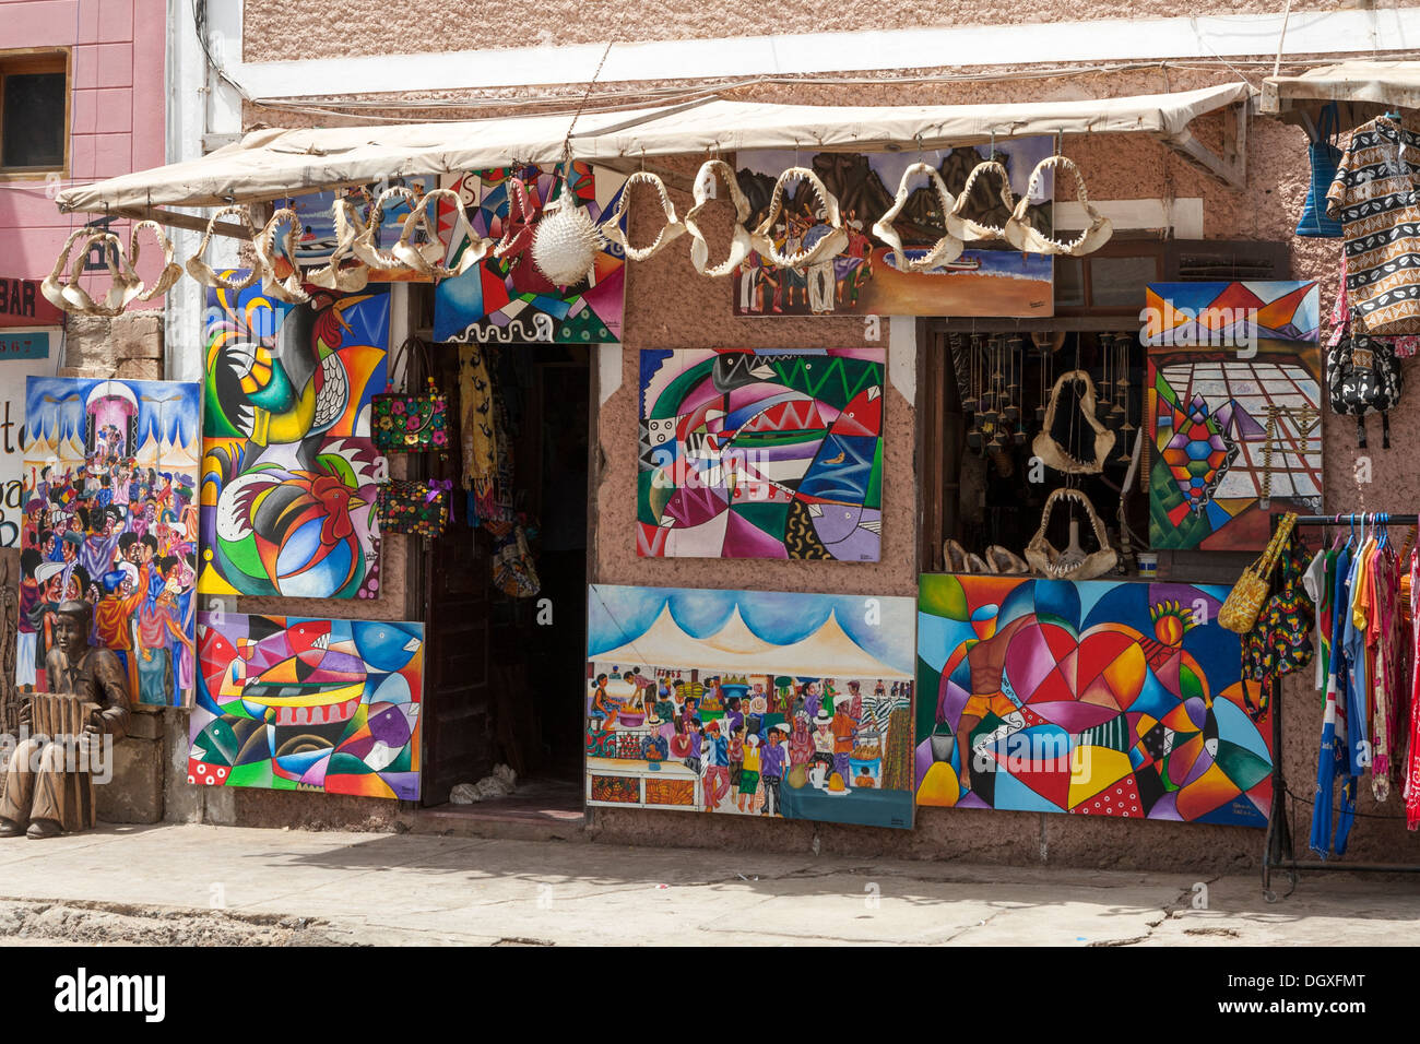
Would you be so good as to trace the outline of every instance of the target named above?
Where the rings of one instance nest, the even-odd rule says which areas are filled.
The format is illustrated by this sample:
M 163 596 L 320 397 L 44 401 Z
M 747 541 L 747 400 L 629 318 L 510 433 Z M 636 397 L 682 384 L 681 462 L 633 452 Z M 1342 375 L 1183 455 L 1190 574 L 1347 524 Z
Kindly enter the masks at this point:
M 202 574 L 207 595 L 373 598 L 389 290 L 207 291 Z

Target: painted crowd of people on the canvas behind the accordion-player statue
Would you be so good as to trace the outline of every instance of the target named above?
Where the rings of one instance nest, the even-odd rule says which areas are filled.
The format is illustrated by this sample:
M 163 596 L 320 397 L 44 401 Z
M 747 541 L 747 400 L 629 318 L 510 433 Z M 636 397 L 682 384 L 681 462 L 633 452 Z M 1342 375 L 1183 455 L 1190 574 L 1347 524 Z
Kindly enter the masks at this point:
M 82 464 L 26 467 L 16 682 L 45 692 L 55 611 L 92 608 L 94 645 L 118 653 L 136 702 L 168 705 L 193 683 L 197 507 L 187 473 L 139 466 L 116 425 Z M 180 702 L 180 700 L 179 700 Z

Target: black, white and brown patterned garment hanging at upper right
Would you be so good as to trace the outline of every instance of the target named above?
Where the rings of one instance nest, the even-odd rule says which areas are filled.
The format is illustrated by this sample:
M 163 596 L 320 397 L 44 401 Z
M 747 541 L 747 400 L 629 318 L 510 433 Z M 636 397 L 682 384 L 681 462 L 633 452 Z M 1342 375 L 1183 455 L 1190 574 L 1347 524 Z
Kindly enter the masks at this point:
M 1420 334 L 1420 135 L 1379 116 L 1336 168 L 1326 213 L 1346 234 L 1346 291 L 1359 332 Z

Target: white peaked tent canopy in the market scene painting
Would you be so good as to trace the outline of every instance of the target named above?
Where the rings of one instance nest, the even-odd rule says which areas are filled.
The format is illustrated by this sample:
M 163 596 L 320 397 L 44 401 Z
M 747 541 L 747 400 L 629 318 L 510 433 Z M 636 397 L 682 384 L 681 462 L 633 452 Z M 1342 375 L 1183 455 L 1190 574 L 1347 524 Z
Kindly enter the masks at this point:
M 717 632 L 706 638 L 687 634 L 670 615 L 666 602 L 645 634 L 615 649 L 599 652 L 596 663 L 677 668 L 736 675 L 797 675 L 801 678 L 910 679 L 848 636 L 838 616 L 828 614 L 822 626 L 790 645 L 774 645 L 750 631 L 738 607 Z

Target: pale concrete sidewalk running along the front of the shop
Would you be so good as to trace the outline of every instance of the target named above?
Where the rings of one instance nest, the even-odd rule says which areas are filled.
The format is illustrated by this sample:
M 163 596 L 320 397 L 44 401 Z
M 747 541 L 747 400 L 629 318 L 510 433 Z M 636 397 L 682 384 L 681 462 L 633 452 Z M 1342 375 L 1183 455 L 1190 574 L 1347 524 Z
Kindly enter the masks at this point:
M 1406 945 L 1420 881 L 852 861 L 555 841 L 101 827 L 0 841 L 0 942 Z M 1287 882 L 1279 882 L 1285 891 Z

